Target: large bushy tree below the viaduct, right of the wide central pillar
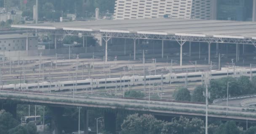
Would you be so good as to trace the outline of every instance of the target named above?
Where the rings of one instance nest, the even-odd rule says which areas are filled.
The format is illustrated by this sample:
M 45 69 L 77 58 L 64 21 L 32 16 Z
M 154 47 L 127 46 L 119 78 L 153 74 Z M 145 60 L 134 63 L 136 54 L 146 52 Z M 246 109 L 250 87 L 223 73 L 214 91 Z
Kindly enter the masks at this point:
M 138 113 L 128 115 L 121 125 L 121 134 L 160 134 L 164 122 L 155 119 L 154 116 Z

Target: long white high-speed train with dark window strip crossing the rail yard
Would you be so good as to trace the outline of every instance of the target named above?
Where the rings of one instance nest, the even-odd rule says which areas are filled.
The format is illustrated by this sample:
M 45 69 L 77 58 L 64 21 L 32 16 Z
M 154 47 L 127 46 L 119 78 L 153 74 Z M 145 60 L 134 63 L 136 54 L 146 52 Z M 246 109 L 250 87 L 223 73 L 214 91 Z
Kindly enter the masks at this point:
M 235 74 L 234 74 L 235 73 Z M 195 82 L 202 81 L 204 77 L 211 79 L 218 79 L 221 77 L 240 77 L 256 74 L 256 68 L 254 69 L 236 69 L 234 70 L 212 70 L 211 72 L 188 72 L 188 73 L 168 73 L 164 75 L 147 75 L 146 84 L 154 83 L 174 83 L 174 82 Z M 124 85 L 144 85 L 144 76 L 123 76 L 115 78 L 103 78 L 103 79 L 85 79 L 85 80 L 73 80 L 73 81 L 61 81 L 61 82 L 40 82 L 40 83 L 21 83 L 3 85 L 5 90 L 35 90 L 35 91 L 61 91 L 76 89 L 91 89 L 91 88 L 110 88 L 120 87 Z M 2 88 L 2 87 L 1 87 Z

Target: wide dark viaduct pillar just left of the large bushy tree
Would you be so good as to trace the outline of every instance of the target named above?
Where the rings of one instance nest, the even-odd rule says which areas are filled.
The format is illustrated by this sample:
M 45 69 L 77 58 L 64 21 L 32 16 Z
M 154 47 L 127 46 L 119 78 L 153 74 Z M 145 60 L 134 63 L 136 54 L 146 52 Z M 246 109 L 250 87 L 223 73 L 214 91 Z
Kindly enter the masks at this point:
M 115 112 L 104 112 L 104 126 L 105 130 L 115 134 L 116 131 L 116 113 Z

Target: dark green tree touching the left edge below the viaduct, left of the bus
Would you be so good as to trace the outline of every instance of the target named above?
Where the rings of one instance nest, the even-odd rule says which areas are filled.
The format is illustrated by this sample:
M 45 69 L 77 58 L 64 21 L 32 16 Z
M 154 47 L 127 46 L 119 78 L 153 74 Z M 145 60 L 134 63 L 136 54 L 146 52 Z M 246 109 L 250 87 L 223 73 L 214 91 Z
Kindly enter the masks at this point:
M 19 122 L 13 118 L 11 113 L 1 111 L 0 112 L 0 134 L 6 134 L 8 130 L 17 126 Z

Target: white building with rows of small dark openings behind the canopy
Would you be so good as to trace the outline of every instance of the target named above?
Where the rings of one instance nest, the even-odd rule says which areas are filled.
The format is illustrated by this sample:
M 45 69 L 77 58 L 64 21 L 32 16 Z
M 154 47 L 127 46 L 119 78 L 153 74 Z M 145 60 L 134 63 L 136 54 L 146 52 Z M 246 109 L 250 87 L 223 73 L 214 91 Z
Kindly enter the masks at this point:
M 213 1 L 215 0 L 116 0 L 114 16 L 117 20 L 164 16 L 211 19 Z

